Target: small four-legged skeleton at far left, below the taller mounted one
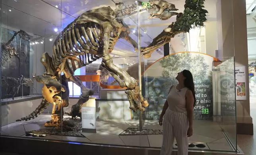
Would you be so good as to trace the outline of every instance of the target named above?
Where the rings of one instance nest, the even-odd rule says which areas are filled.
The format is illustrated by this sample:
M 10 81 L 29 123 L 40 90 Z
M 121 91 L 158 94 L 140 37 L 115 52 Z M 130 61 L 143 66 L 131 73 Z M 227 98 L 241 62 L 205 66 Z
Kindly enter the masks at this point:
M 19 77 L 3 76 L 1 80 L 3 83 L 7 85 L 6 92 L 8 92 L 8 87 L 11 88 L 8 94 L 6 94 L 6 96 L 12 96 L 12 99 L 14 100 L 14 96 L 19 92 L 19 88 L 22 85 L 25 85 L 26 87 L 30 87 L 32 90 L 35 90 L 37 93 L 37 90 L 34 87 L 35 76 L 33 74 L 32 76 L 33 76 L 33 79 L 23 77 L 22 75 Z M 11 92 L 14 92 L 14 94 L 12 95 Z

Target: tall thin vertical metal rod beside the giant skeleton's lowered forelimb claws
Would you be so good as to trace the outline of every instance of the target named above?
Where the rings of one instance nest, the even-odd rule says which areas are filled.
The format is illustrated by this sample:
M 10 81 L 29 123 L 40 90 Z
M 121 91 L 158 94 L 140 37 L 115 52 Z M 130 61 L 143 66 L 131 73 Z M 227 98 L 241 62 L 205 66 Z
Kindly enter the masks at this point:
M 138 9 L 138 12 L 139 12 L 139 8 L 140 6 L 138 5 L 137 9 Z M 138 84 L 139 84 L 139 88 L 140 88 L 140 91 L 142 90 L 142 76 L 141 76 L 141 73 L 142 73 L 142 69 L 141 69 L 141 54 L 140 54 L 140 13 L 137 13 L 137 21 L 138 21 L 138 61 L 139 61 L 139 64 L 138 64 L 138 77 L 139 77 L 139 81 L 138 81 Z M 140 102 L 140 95 L 139 95 L 139 102 Z M 140 104 L 141 106 L 141 104 Z M 140 115 L 139 115 L 139 130 L 142 131 L 142 111 L 139 111 Z

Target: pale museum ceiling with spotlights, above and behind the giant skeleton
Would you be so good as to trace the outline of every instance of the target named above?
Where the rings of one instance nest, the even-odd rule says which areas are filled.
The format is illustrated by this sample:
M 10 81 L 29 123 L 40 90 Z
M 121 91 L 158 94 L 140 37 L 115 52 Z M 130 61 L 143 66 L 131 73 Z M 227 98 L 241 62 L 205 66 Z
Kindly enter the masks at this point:
M 175 4 L 176 8 L 183 12 L 184 0 L 167 1 Z M 56 34 L 54 28 L 61 30 L 89 9 L 103 6 L 111 6 L 112 9 L 115 9 L 115 2 L 124 2 L 129 5 L 133 4 L 135 0 L 2 0 L 2 25 L 22 29 L 39 36 L 52 35 Z M 205 6 L 209 12 L 209 21 L 216 20 L 216 2 L 217 0 L 206 0 Z M 171 17 L 169 20 L 161 21 L 153 18 L 148 19 L 148 16 L 147 12 L 140 14 L 141 46 L 147 46 L 155 36 L 176 19 L 176 17 Z M 125 22 L 134 31 L 131 37 L 138 40 L 137 16 L 126 18 Z M 172 39 L 171 44 L 175 51 L 183 50 L 182 37 L 184 37 L 183 34 Z M 136 57 L 137 55 L 133 52 L 132 45 L 125 40 L 116 43 L 115 52 L 124 57 Z M 163 47 L 154 52 L 150 59 L 157 60 L 161 57 L 163 57 Z

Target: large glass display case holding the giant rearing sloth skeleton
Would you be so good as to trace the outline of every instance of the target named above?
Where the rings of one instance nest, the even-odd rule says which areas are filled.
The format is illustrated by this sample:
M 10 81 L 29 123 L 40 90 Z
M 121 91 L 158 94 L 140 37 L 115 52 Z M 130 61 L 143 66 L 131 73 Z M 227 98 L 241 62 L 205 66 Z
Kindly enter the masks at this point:
M 168 2 L 2 0 L 1 136 L 160 149 L 163 104 L 187 69 L 189 149 L 236 151 L 234 57 L 216 58 L 208 33 L 217 0 Z

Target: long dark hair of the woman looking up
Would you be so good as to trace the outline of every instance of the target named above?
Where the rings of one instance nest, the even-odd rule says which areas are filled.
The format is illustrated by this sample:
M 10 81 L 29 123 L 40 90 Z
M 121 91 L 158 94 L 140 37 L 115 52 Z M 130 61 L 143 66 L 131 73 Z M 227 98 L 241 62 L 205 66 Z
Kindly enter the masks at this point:
M 193 76 L 189 70 L 183 70 L 182 75 L 186 77 L 186 79 L 184 79 L 184 85 L 185 87 L 190 89 L 190 91 L 192 91 L 192 94 L 194 96 L 194 106 L 196 106 L 196 92 Z

